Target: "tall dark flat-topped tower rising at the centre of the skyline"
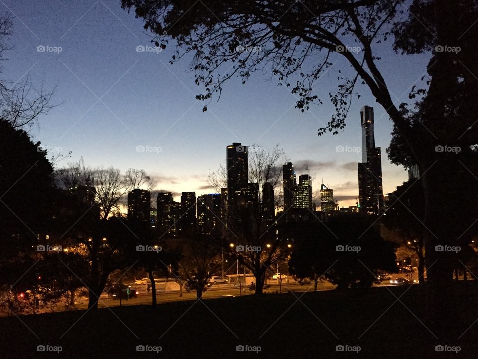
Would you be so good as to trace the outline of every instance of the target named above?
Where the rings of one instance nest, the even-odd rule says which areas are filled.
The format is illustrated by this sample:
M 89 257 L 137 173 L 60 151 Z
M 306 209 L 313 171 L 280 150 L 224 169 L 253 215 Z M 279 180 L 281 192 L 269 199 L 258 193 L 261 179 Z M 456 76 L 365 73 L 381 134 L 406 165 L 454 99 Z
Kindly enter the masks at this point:
M 228 199 L 234 201 L 239 191 L 248 184 L 247 146 L 233 142 L 226 147 L 226 168 L 228 171 Z

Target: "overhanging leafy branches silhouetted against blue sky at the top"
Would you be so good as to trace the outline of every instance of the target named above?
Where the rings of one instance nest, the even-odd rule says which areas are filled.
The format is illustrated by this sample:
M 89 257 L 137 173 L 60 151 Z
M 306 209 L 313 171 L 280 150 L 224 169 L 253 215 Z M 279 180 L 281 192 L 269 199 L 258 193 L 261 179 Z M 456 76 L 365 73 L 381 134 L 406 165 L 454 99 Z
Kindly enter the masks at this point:
M 197 99 L 220 95 L 224 81 L 233 76 L 245 82 L 256 70 L 268 68 L 280 85 L 291 88 L 296 107 L 304 111 L 313 102 L 322 103 L 313 85 L 332 66 L 330 56 L 337 52 L 384 106 L 395 108 L 371 48 L 389 36 L 385 25 L 396 15 L 399 1 L 122 0 L 122 6 L 135 8 L 157 46 L 165 48 L 169 36 L 176 40 L 178 50 L 171 62 L 194 56 L 196 84 L 205 86 Z M 350 51 L 352 46 L 359 50 Z M 304 66 L 310 61 L 314 64 Z M 358 75 L 339 78 L 339 91 L 330 93 L 336 113 L 319 134 L 337 133 L 345 126 Z

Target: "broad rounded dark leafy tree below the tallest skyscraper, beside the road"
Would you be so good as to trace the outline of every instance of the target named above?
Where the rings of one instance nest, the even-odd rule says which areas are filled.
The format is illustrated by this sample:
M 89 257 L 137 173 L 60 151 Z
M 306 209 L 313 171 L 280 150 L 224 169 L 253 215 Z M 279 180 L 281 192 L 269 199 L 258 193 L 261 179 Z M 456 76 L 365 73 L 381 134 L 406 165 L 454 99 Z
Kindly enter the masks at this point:
M 396 273 L 393 243 L 370 224 L 362 216 L 340 215 L 327 228 L 317 224 L 312 231 L 297 231 L 289 262 L 292 273 L 315 280 L 324 275 L 337 289 L 367 288 L 379 271 Z

